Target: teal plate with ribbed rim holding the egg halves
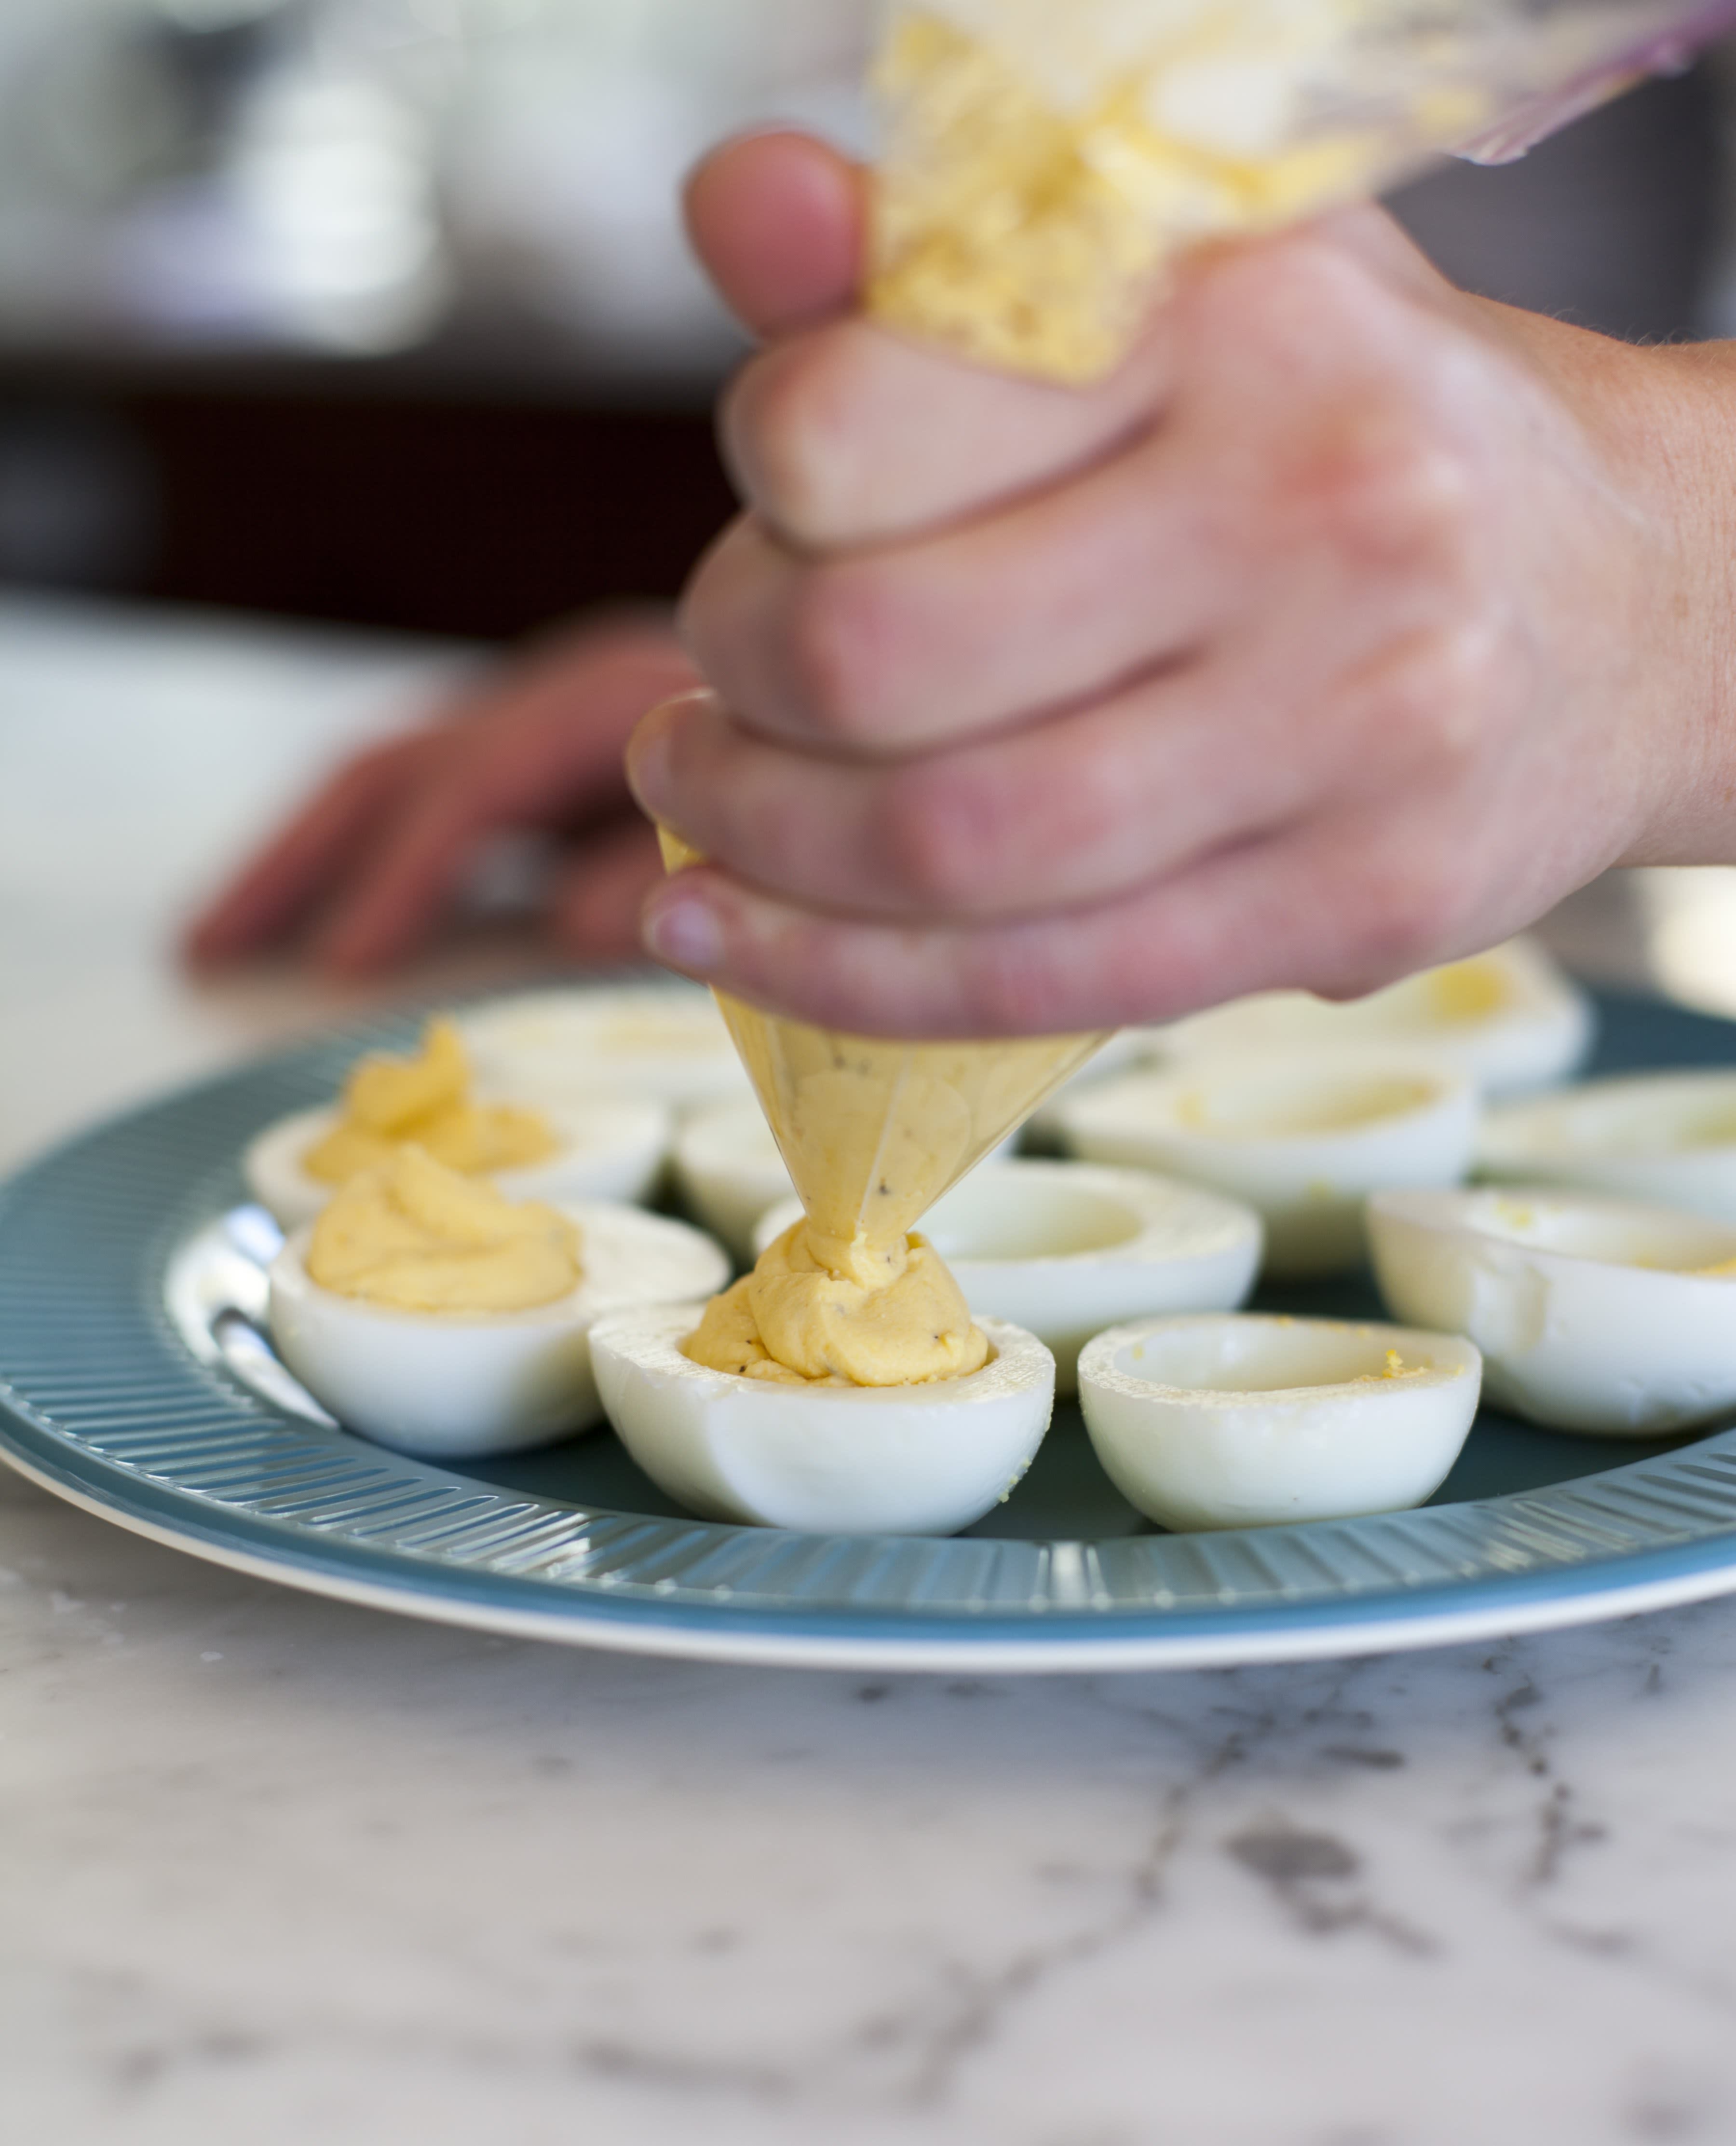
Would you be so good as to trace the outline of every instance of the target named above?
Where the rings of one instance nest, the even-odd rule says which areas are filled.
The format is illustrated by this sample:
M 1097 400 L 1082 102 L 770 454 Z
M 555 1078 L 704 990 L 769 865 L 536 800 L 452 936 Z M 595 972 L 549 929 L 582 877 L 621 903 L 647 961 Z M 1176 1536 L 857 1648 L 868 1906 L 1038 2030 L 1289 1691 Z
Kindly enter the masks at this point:
M 107 1519 L 292 1586 L 491 1631 L 876 1670 L 1103 1670 L 1440 1646 L 1736 1590 L 1736 1429 L 1661 1446 L 1485 1410 L 1416 1513 L 1163 1534 L 1062 1410 L 951 1541 L 697 1524 L 607 1431 L 431 1468 L 307 1414 L 253 1318 L 236 1157 L 350 1032 L 75 1140 L 0 1187 L 0 1455 Z M 1736 1026 L 1603 1000 L 1599 1071 L 1736 1064 Z M 262 1228 L 264 1225 L 264 1228 Z M 1367 1281 L 1268 1296 L 1363 1315 Z

